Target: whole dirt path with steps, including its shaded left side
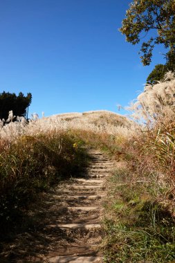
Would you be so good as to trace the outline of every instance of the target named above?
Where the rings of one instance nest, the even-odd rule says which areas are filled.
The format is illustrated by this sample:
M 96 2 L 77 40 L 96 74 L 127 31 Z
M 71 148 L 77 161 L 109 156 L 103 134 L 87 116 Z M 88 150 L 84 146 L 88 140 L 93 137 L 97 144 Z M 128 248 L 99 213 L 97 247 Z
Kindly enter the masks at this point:
M 94 150 L 89 154 L 91 165 L 84 177 L 46 194 L 39 210 L 31 212 L 28 232 L 6 247 L 4 262 L 102 262 L 98 251 L 103 235 L 102 198 L 113 161 Z

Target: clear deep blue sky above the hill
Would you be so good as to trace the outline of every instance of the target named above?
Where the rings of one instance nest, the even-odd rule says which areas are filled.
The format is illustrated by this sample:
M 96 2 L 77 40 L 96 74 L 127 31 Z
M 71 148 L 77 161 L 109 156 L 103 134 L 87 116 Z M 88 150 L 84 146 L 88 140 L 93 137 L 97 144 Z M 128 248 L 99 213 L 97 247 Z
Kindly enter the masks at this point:
M 118 112 L 155 64 L 119 31 L 130 0 L 0 1 L 0 89 L 31 92 L 30 113 Z M 124 111 L 118 112 L 124 113 Z

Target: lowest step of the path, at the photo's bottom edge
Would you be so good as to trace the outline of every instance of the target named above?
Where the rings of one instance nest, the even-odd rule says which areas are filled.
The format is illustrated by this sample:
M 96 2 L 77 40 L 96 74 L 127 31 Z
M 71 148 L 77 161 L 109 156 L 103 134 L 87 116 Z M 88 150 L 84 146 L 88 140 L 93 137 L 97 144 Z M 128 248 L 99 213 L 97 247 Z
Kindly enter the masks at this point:
M 102 257 L 56 256 L 47 258 L 49 263 L 102 263 Z

